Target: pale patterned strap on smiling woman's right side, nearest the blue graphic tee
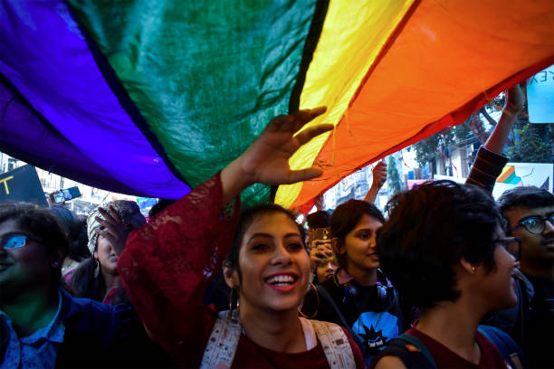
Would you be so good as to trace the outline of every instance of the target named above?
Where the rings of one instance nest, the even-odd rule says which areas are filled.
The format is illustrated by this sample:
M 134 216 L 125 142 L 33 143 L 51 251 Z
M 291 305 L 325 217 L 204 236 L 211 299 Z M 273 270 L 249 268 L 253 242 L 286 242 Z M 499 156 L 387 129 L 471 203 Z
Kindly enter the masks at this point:
M 301 319 L 304 319 L 301 317 Z M 349 338 L 342 328 L 329 322 L 309 320 L 320 340 L 330 369 L 356 369 L 354 353 Z

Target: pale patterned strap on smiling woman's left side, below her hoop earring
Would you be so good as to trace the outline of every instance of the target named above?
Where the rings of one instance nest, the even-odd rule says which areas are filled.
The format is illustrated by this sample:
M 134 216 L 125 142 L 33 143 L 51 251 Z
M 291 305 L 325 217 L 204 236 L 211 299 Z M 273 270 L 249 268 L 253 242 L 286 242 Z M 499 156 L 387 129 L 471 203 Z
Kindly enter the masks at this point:
M 238 310 L 220 311 L 202 356 L 201 369 L 230 368 L 241 337 L 242 326 Z

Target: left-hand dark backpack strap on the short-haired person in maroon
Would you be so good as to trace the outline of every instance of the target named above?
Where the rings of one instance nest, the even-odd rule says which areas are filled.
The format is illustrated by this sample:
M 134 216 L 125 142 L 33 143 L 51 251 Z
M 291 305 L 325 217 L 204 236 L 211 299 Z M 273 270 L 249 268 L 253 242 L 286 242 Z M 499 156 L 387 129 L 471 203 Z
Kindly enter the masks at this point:
M 433 368 L 437 369 L 435 359 L 429 349 L 419 338 L 409 333 L 396 337 L 387 344 L 387 347 L 377 356 L 393 355 L 399 358 L 406 368 Z

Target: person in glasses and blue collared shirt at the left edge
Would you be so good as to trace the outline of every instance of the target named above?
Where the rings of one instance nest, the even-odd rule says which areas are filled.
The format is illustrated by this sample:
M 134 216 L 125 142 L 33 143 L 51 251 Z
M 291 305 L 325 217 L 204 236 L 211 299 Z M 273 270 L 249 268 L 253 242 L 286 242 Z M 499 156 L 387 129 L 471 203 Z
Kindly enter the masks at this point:
M 130 307 L 62 288 L 68 250 L 51 212 L 0 204 L 0 369 L 172 364 Z

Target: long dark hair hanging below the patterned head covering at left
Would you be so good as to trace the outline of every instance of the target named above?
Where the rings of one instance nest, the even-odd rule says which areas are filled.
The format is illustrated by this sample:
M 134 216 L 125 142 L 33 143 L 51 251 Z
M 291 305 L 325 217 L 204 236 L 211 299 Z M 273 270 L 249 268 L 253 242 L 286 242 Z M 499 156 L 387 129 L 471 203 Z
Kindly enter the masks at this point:
M 95 301 L 104 301 L 104 297 L 108 292 L 106 282 L 101 272 L 97 278 L 94 278 L 96 266 L 97 261 L 94 258 L 89 258 L 81 261 L 79 266 L 73 270 L 69 285 L 75 298 L 91 298 Z M 125 289 L 120 283 L 119 289 L 110 303 L 110 305 L 117 304 L 130 305 Z

